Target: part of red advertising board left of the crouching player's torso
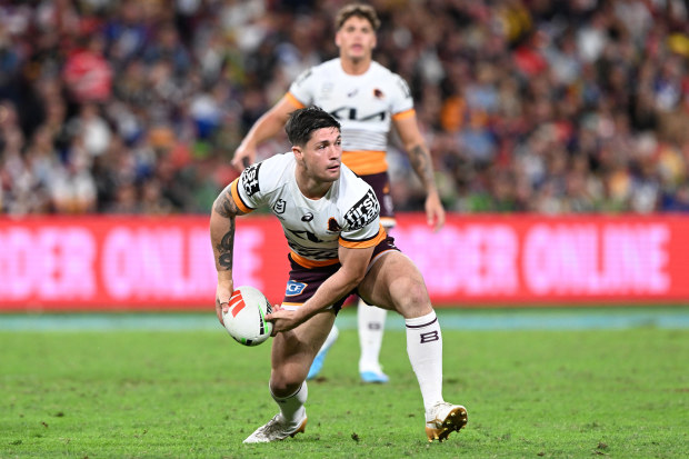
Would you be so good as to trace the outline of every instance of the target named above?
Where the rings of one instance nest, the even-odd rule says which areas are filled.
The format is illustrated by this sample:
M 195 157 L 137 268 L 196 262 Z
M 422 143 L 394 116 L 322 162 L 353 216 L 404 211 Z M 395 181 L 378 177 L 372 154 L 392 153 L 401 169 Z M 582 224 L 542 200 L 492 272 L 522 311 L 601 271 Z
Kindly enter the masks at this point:
M 212 308 L 207 217 L 28 218 L 0 221 L 0 309 Z M 244 217 L 234 282 L 279 302 L 287 242 L 274 219 Z

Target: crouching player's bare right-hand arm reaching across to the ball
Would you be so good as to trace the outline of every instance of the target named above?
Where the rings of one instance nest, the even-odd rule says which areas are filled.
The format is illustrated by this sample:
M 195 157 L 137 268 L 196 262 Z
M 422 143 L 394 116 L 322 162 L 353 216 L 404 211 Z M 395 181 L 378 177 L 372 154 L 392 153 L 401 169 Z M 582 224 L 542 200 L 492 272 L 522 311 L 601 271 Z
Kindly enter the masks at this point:
M 316 313 L 352 291 L 366 276 L 375 247 L 349 249 L 340 246 L 338 257 L 341 267 L 316 290 L 316 293 L 296 311 L 279 310 L 266 319 L 273 322 L 272 335 L 288 331 L 306 322 Z

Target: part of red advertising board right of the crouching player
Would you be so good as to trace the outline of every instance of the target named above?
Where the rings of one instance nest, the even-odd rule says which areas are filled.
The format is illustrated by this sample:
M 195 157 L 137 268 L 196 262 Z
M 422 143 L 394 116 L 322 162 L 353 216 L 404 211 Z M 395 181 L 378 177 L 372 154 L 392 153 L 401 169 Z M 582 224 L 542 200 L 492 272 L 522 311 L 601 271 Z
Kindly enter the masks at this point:
M 689 300 L 689 218 L 420 217 L 393 235 L 436 303 L 630 303 Z

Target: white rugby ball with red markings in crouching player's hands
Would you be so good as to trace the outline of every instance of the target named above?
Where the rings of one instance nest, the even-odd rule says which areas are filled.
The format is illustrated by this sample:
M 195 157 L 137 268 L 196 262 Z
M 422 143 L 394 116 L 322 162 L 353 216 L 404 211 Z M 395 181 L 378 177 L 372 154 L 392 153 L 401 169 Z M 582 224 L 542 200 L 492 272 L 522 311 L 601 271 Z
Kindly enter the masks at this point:
M 251 286 L 237 288 L 229 306 L 222 313 L 222 321 L 234 341 L 258 346 L 270 338 L 272 322 L 266 321 L 266 315 L 272 312 L 272 307 L 259 289 Z

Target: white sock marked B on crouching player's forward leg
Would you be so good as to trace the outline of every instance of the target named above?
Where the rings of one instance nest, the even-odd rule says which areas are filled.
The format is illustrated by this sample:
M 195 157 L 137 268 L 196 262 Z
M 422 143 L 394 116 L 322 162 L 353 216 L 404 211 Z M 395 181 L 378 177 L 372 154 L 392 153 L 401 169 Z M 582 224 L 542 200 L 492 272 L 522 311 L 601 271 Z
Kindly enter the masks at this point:
M 405 319 L 407 325 L 407 353 L 417 373 L 423 407 L 430 408 L 442 401 L 442 335 L 436 311 Z

